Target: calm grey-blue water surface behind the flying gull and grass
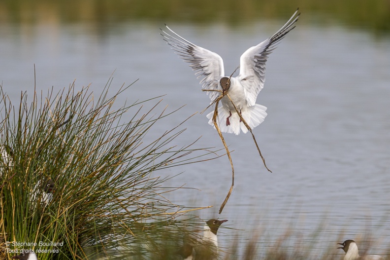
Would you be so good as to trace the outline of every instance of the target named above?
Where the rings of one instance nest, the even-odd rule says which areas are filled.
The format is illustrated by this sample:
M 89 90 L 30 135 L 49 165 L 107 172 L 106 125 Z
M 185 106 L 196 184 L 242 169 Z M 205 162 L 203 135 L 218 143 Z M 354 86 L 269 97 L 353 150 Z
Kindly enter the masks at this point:
M 226 74 L 231 74 L 247 48 L 284 22 L 234 28 L 169 26 L 219 53 Z M 0 25 L 3 91 L 14 104 L 21 91 L 32 93 L 34 64 L 36 88 L 44 93 L 51 86 L 59 91 L 76 79 L 76 89 L 92 83 L 98 94 L 115 71 L 113 92 L 139 78 L 118 104 L 165 94 L 161 108 L 169 105 L 172 111 L 187 104 L 154 130 L 156 136 L 162 134 L 209 104 L 191 69 L 162 40 L 162 26 L 146 22 L 104 28 L 88 23 Z M 321 227 L 313 245 L 318 252 L 328 252 L 347 238 L 362 239 L 370 230 L 378 242 L 371 245 L 372 251 L 384 253 L 390 239 L 390 38 L 298 22 L 270 55 L 266 78 L 257 103 L 268 107 L 268 116 L 254 134 L 273 173 L 263 167 L 249 134 L 226 134 L 229 149 L 234 150 L 236 174 L 222 215 L 218 209 L 231 184 L 227 157 L 157 173 L 183 172 L 167 186 L 196 188 L 174 192 L 169 198 L 188 206 L 213 205 L 200 211 L 200 217 L 228 219 L 228 227 L 246 231 L 239 234 L 240 241 L 261 231 L 263 249 L 289 229 L 291 241 L 309 243 Z M 205 114 L 189 119 L 183 125 L 185 135 L 174 144 L 181 147 L 202 136 L 196 147 L 223 149 Z M 222 246 L 229 247 L 237 232 L 222 229 Z

